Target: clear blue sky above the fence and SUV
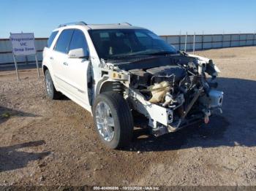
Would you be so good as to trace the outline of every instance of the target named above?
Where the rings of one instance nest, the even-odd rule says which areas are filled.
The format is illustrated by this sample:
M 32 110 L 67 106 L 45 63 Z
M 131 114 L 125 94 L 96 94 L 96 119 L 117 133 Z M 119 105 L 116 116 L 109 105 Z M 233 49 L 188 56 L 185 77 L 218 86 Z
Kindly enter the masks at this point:
M 48 37 L 61 23 L 131 23 L 158 35 L 256 31 L 255 0 L 1 0 L 0 39 Z

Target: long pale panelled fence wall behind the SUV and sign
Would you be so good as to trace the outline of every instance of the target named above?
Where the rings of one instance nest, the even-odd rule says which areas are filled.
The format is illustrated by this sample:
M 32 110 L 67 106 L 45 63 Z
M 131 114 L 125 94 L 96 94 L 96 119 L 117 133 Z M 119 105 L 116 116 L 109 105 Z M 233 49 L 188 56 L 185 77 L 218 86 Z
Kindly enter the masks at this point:
M 169 44 L 173 44 L 177 50 L 184 50 L 185 35 L 162 36 Z M 193 50 L 193 35 L 187 36 L 187 51 Z M 35 40 L 37 59 L 42 61 L 42 50 L 47 44 L 47 38 Z M 222 47 L 243 47 L 256 45 L 255 34 L 207 34 L 195 35 L 195 50 L 206 50 Z M 18 63 L 24 63 L 25 57 L 17 57 Z M 27 56 L 28 62 L 34 62 L 34 56 Z M 0 65 L 13 63 L 12 47 L 9 39 L 0 39 Z

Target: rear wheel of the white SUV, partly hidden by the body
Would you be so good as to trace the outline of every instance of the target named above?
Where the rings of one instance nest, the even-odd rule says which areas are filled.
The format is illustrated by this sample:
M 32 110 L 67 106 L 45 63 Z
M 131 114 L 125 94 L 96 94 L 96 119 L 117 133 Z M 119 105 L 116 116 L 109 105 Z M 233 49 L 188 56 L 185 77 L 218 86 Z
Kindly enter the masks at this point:
M 50 71 L 45 71 L 45 90 L 46 95 L 50 99 L 59 99 L 61 97 L 61 93 L 58 92 L 54 85 L 53 85 L 53 79 L 50 77 Z

